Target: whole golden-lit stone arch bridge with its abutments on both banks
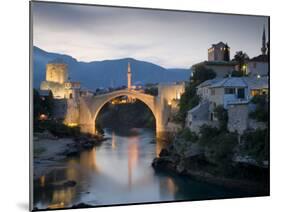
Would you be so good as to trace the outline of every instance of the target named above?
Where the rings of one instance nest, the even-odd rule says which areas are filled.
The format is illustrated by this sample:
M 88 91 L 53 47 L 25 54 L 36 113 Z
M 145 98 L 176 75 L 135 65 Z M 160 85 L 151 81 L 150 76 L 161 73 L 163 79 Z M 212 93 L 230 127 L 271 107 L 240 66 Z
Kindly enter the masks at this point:
M 81 96 L 76 98 L 77 104 L 67 109 L 65 122 L 76 122 L 82 132 L 96 133 L 96 118 L 103 106 L 111 100 L 127 96 L 142 101 L 153 113 L 156 120 L 156 133 L 160 135 L 170 131 L 168 122 L 173 110 L 177 109 L 177 101 L 184 92 L 184 84 L 158 85 L 158 96 L 152 96 L 140 91 L 123 89 L 96 96 Z M 75 100 L 70 100 L 75 103 Z M 70 104 L 71 105 L 71 104 Z M 73 109 L 76 108 L 76 109 Z M 75 121 L 73 121 L 75 117 Z

